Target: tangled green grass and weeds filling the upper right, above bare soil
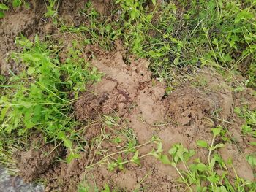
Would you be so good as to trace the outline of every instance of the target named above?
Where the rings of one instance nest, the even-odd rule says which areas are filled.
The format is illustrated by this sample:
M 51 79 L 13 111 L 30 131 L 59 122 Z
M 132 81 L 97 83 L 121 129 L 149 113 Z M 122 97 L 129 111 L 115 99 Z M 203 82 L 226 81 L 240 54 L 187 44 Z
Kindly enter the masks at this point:
M 213 66 L 219 72 L 238 72 L 255 86 L 255 1 L 178 1 L 157 4 L 116 1 L 113 20 L 105 20 L 88 3 L 81 12 L 89 24 L 63 30 L 82 32 L 89 44 L 110 50 L 122 39 L 129 52 L 151 61 L 156 77 L 173 81 L 173 69 Z M 238 72 L 239 73 L 239 72 Z

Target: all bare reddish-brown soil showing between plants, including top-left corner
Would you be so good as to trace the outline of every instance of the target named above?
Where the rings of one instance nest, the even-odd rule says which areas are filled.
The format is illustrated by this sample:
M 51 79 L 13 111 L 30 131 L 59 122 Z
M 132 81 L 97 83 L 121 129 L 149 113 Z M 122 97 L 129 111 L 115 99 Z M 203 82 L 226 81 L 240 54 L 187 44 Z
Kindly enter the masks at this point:
M 85 1 L 60 1 L 59 18 L 73 26 L 83 23 L 78 10 Z M 93 1 L 98 12 L 108 15 L 111 1 Z M 61 38 L 58 28 L 54 28 L 51 20 L 44 20 L 45 6 L 43 1 L 31 1 L 31 8 L 20 7 L 7 12 L 0 20 L 0 64 L 1 74 L 9 75 L 19 72 L 21 66 L 7 59 L 12 50 L 19 51 L 15 46 L 15 37 L 23 34 L 33 39 L 56 34 Z M 103 188 L 106 183 L 111 188 L 123 191 L 181 191 L 184 185 L 178 184 L 178 174 L 171 166 L 164 165 L 153 156 L 141 159 L 140 166 L 128 163 L 124 170 L 110 171 L 108 166 L 97 164 L 104 155 L 116 153 L 127 145 L 127 137 L 122 142 L 111 142 L 124 128 L 129 128 L 135 135 L 138 145 L 151 140 L 153 136 L 162 140 L 165 152 L 176 143 L 182 143 L 197 152 L 195 158 L 206 162 L 207 151 L 197 147 L 197 140 L 211 143 L 211 128 L 221 125 L 226 127 L 234 144 L 225 145 L 218 153 L 225 161 L 233 159 L 233 166 L 239 177 L 255 180 L 252 167 L 247 163 L 246 154 L 254 152 L 248 141 L 255 142 L 251 137 L 241 137 L 241 125 L 244 120 L 233 112 L 234 107 L 246 104 L 250 110 L 256 109 L 253 91 L 233 93 L 225 79 L 214 69 L 198 69 L 193 78 L 179 85 L 169 95 L 165 92 L 165 82 L 152 77 L 148 69 L 149 62 L 145 59 L 129 55 L 121 42 L 116 42 L 116 50 L 105 52 L 95 46 L 83 47 L 91 64 L 104 74 L 102 80 L 87 87 L 74 104 L 78 120 L 88 124 L 83 138 L 84 146 L 80 158 L 67 164 L 57 158 L 66 158 L 69 151 L 59 149 L 54 152 L 52 145 L 31 147 L 17 155 L 20 176 L 26 182 L 46 180 L 45 191 L 76 191 L 78 183 L 86 183 L 91 188 Z M 60 61 L 65 52 L 59 54 Z M 203 82 L 203 83 L 202 83 Z M 102 117 L 118 117 L 114 126 L 106 126 Z M 105 116 L 106 117 L 106 116 Z M 108 139 L 102 139 L 109 135 Z M 219 142 L 219 141 L 217 141 Z M 154 149 L 153 144 L 138 148 L 139 155 L 145 155 Z M 101 152 L 101 153 L 99 153 Z M 132 158 L 130 154 L 121 154 L 122 158 Z M 118 158 L 115 155 L 114 158 Z M 91 166 L 95 164 L 94 166 Z M 90 169 L 86 167 L 90 166 Z M 183 167 L 180 167 L 183 169 Z M 233 169 L 230 172 L 235 177 Z M 231 175 L 232 176 L 232 175 Z M 233 178 L 231 177 L 230 180 Z

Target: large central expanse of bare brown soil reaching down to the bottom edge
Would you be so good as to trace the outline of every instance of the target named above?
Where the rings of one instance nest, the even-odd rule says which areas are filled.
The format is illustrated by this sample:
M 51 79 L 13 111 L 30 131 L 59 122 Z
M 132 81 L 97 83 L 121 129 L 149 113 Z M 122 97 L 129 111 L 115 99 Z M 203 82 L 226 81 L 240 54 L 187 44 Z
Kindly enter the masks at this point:
M 128 56 L 129 64 L 126 64 L 124 56 L 127 58 L 124 51 L 108 55 L 101 53 L 91 61 L 105 76 L 101 82 L 91 85 L 75 104 L 78 120 L 97 122 L 85 130 L 83 137 L 89 142 L 85 146 L 85 152 L 70 164 L 50 164 L 52 158 L 42 159 L 42 153 L 31 150 L 22 153 L 20 169 L 26 180 L 36 177 L 48 180 L 46 191 L 75 191 L 78 183 L 83 181 L 91 188 L 94 185 L 102 188 L 109 183 L 113 188 L 118 186 L 127 191 L 140 188 L 144 191 L 180 191 L 183 186 L 175 185 L 178 178 L 176 170 L 152 156 L 143 158 L 140 166 L 130 163 L 125 165 L 124 171 L 109 171 L 107 166 L 99 164 L 85 169 L 103 158 L 97 152 L 108 151 L 105 154 L 108 155 L 116 153 L 125 145 L 125 142 L 117 145 L 104 140 L 95 147 L 95 138 L 100 137 L 102 128 L 106 134 L 113 134 L 113 139 L 116 131 L 129 127 L 134 131 L 139 145 L 148 142 L 155 135 L 162 140 L 165 151 L 173 144 L 182 143 L 189 149 L 197 150 L 195 158 L 206 162 L 207 151 L 198 148 L 196 141 L 206 140 L 210 144 L 211 128 L 219 124 L 229 126 L 230 134 L 237 139 L 236 145 L 227 144 L 219 150 L 219 154 L 225 161 L 233 159 L 238 176 L 255 180 L 252 167 L 246 162 L 244 155 L 252 153 L 253 148 L 245 145 L 241 137 L 240 127 L 244 122 L 233 114 L 234 103 L 242 96 L 233 95 L 221 76 L 212 69 L 203 69 L 195 74 L 195 80 L 165 96 L 165 84 L 151 78 L 151 72 L 147 69 L 148 61 Z M 195 86 L 197 79 L 206 80 L 206 85 Z M 253 104 L 255 98 L 250 93 L 247 89 L 240 94 Z M 114 129 L 104 126 L 101 115 L 118 115 L 121 118 L 120 126 Z M 226 121 L 231 124 L 225 123 Z M 139 154 L 145 155 L 153 148 L 154 145 L 140 147 Z M 122 157 L 127 158 L 124 154 Z M 233 172 L 231 167 L 230 172 Z M 233 176 L 235 177 L 234 173 Z

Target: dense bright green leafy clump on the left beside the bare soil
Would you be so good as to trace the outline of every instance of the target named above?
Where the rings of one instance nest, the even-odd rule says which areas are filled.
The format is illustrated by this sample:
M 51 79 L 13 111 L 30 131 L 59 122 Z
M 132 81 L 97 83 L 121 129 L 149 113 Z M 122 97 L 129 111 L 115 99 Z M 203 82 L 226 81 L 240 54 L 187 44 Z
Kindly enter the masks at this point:
M 16 42 L 23 51 L 13 53 L 12 58 L 25 69 L 1 85 L 1 137 L 23 137 L 36 130 L 43 134 L 45 142 L 63 142 L 71 150 L 71 161 L 78 157 L 72 140 L 78 139 L 79 126 L 72 104 L 78 93 L 86 90 L 87 83 L 99 81 L 102 74 L 86 63 L 75 45 L 69 48 L 64 64 L 60 64 L 59 47 L 51 42 L 41 43 L 37 36 L 34 42 L 23 37 Z M 7 145 L 2 142 L 1 146 Z

